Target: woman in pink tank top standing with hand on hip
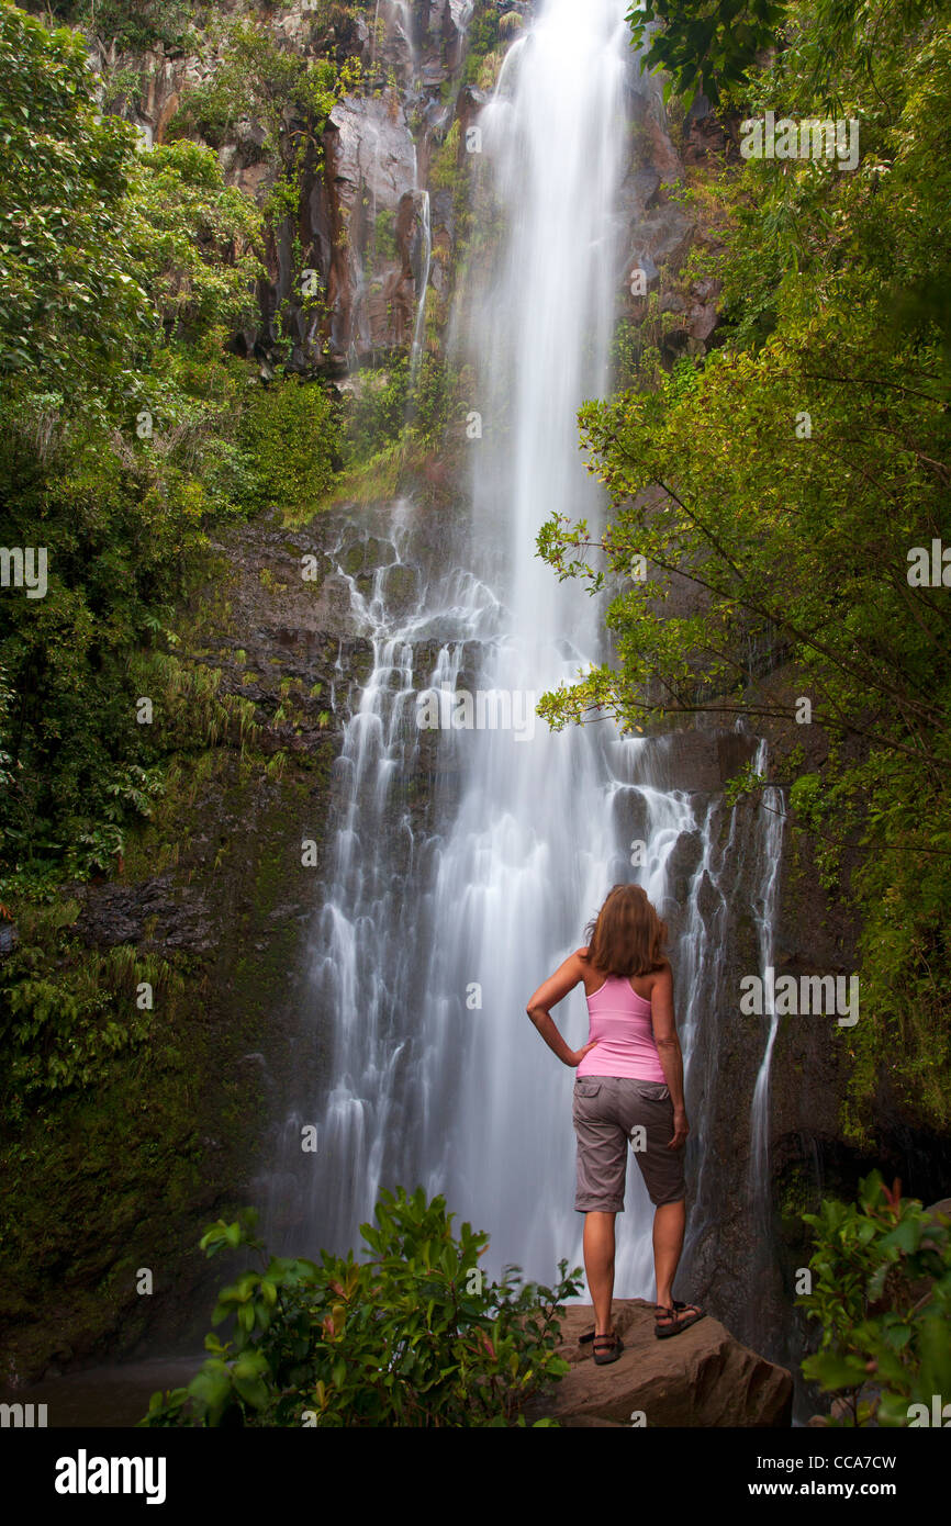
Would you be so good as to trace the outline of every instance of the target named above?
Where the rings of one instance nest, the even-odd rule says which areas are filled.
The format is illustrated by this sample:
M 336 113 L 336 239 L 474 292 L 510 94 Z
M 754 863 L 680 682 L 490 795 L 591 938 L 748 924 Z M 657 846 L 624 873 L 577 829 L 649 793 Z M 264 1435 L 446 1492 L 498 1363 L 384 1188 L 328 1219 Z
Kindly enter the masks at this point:
M 585 1215 L 585 1271 L 594 1303 L 594 1360 L 617 1361 L 623 1343 L 611 1323 L 614 1219 L 624 1212 L 627 1141 L 655 1206 L 655 1335 L 676 1335 L 704 1318 L 672 1297 L 684 1245 L 684 1061 L 673 1016 L 667 928 L 640 885 L 615 885 L 575 949 L 536 990 L 527 1012 L 551 1050 L 577 1068 L 574 1129 L 577 1192 Z M 550 1009 L 585 983 L 588 1044 L 571 1050 Z

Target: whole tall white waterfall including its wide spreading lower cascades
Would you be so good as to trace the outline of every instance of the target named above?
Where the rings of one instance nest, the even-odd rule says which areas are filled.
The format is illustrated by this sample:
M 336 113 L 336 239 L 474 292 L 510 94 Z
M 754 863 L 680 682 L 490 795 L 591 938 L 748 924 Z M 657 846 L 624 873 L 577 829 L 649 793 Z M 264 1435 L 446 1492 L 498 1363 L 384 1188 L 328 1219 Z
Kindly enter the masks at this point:
M 670 926 L 695 1132 L 716 1094 L 710 1015 L 736 1007 L 724 949 L 730 888 L 751 858 L 745 818 L 714 786 L 678 778 L 676 739 L 621 737 L 608 720 L 550 734 L 534 717 L 545 690 L 604 655 L 603 604 L 559 584 L 534 543 L 553 511 L 595 525 L 603 514 L 575 415 L 609 389 L 629 256 L 617 214 L 627 9 L 548 0 L 479 118 L 479 194 L 502 235 L 456 325 L 482 421 L 470 516 L 437 533 L 411 502 L 380 505 L 359 528 L 343 520 L 330 548 L 371 671 L 336 696 L 350 719 L 295 998 L 298 1090 L 270 1180 L 270 1241 L 287 1248 L 356 1247 L 380 1187 L 421 1183 L 490 1233 L 495 1273 L 517 1264 L 551 1280 L 560 1257 L 580 1264 L 574 1071 L 525 1003 L 617 881 L 643 884 Z M 359 537 L 377 548 L 363 584 L 348 571 Z M 421 726 L 434 713 L 438 725 Z M 753 858 L 762 879 L 769 855 Z M 762 885 L 756 894 L 765 929 L 772 902 Z M 582 987 L 554 1018 L 569 1045 L 585 1042 Z M 318 1151 L 302 1157 L 308 1125 Z M 716 1184 L 688 1149 L 698 1242 Z M 650 1297 L 652 1206 L 629 1166 L 615 1289 Z

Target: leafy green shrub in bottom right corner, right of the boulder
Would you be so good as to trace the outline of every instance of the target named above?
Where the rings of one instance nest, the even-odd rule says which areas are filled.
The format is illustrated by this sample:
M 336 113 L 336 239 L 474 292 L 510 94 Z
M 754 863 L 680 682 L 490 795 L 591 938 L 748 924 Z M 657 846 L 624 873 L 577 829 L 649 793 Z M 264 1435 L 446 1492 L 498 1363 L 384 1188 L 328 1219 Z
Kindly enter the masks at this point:
M 815 1230 L 815 1280 L 797 1302 L 823 1335 L 801 1366 L 847 1401 L 830 1424 L 908 1425 L 910 1405 L 931 1415 L 936 1396 L 951 1402 L 951 1219 L 899 1196 L 898 1183 L 888 1192 L 878 1170 L 859 1183 L 858 1204 L 824 1201 L 803 1219 Z

